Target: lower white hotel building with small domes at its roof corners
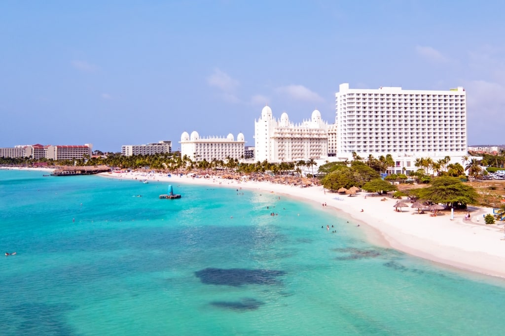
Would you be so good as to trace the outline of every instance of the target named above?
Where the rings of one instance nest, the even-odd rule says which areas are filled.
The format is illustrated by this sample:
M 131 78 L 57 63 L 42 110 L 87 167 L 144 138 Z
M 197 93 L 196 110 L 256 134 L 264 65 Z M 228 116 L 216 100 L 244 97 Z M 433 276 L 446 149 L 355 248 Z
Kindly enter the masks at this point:
M 228 134 L 226 138 L 222 137 L 207 137 L 200 138 L 198 132 L 193 131 L 191 136 L 187 132 L 182 133 L 181 141 L 181 157 L 187 156 L 192 161 L 212 161 L 223 160 L 228 158 L 243 159 L 244 158 L 244 135 L 239 133 L 237 140 L 233 134 Z

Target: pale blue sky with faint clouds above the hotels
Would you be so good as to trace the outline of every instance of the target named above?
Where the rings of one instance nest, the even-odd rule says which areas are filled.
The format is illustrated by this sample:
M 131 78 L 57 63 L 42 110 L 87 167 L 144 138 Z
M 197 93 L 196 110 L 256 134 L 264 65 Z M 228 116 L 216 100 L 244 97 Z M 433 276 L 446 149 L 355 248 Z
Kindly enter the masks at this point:
M 503 144 L 505 2 L 0 2 L 0 147 L 121 145 L 295 124 L 335 93 L 467 93 L 468 143 Z

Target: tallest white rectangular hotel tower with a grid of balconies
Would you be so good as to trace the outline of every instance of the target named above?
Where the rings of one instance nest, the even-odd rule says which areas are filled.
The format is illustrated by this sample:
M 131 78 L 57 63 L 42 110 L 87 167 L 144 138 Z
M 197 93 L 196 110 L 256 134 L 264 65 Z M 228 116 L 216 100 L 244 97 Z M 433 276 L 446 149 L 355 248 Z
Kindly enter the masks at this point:
M 401 87 L 350 89 L 340 84 L 336 98 L 337 157 L 391 154 L 395 170 L 416 170 L 416 158 L 467 154 L 467 109 L 463 87 L 446 91 Z

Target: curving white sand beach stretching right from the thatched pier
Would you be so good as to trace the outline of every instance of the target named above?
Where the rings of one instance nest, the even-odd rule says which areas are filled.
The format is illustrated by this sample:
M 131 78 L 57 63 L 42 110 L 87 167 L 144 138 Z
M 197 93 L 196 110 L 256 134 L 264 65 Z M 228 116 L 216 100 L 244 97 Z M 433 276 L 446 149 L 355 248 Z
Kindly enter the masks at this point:
M 430 216 L 429 212 L 418 214 L 418 210 L 411 207 L 396 212 L 393 204 L 397 200 L 386 197 L 385 201 L 381 201 L 383 197 L 377 193 L 376 196 L 371 196 L 360 192 L 349 197 L 325 191 L 322 186 L 300 188 L 270 182 L 238 182 L 220 177 L 168 177 L 166 174 L 139 172 L 99 175 L 107 178 L 172 182 L 174 186 L 182 183 L 253 189 L 316 202 L 321 207 L 322 203 L 326 203 L 327 206 L 322 208 L 334 208 L 341 215 L 350 216 L 354 220 L 349 225 L 360 223 L 377 230 L 383 241 L 394 249 L 459 269 L 505 277 L 505 223 L 485 225 L 483 214 L 492 213 L 490 208 L 469 207 L 471 220 L 465 220 L 463 212 L 455 213 L 451 220 L 447 211 L 436 217 Z M 410 202 L 406 203 L 410 205 Z

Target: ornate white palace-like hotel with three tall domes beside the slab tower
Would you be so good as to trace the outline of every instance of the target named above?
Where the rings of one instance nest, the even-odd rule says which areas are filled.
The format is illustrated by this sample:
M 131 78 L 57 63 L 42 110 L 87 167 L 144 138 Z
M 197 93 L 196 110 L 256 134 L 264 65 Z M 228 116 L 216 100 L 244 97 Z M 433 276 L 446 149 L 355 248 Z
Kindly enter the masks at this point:
M 255 160 L 268 162 L 325 158 L 328 155 L 328 124 L 321 120 L 317 109 L 311 120 L 295 125 L 289 121 L 287 113 L 275 120 L 272 109 L 265 106 L 261 118 L 255 120 L 255 155 Z

